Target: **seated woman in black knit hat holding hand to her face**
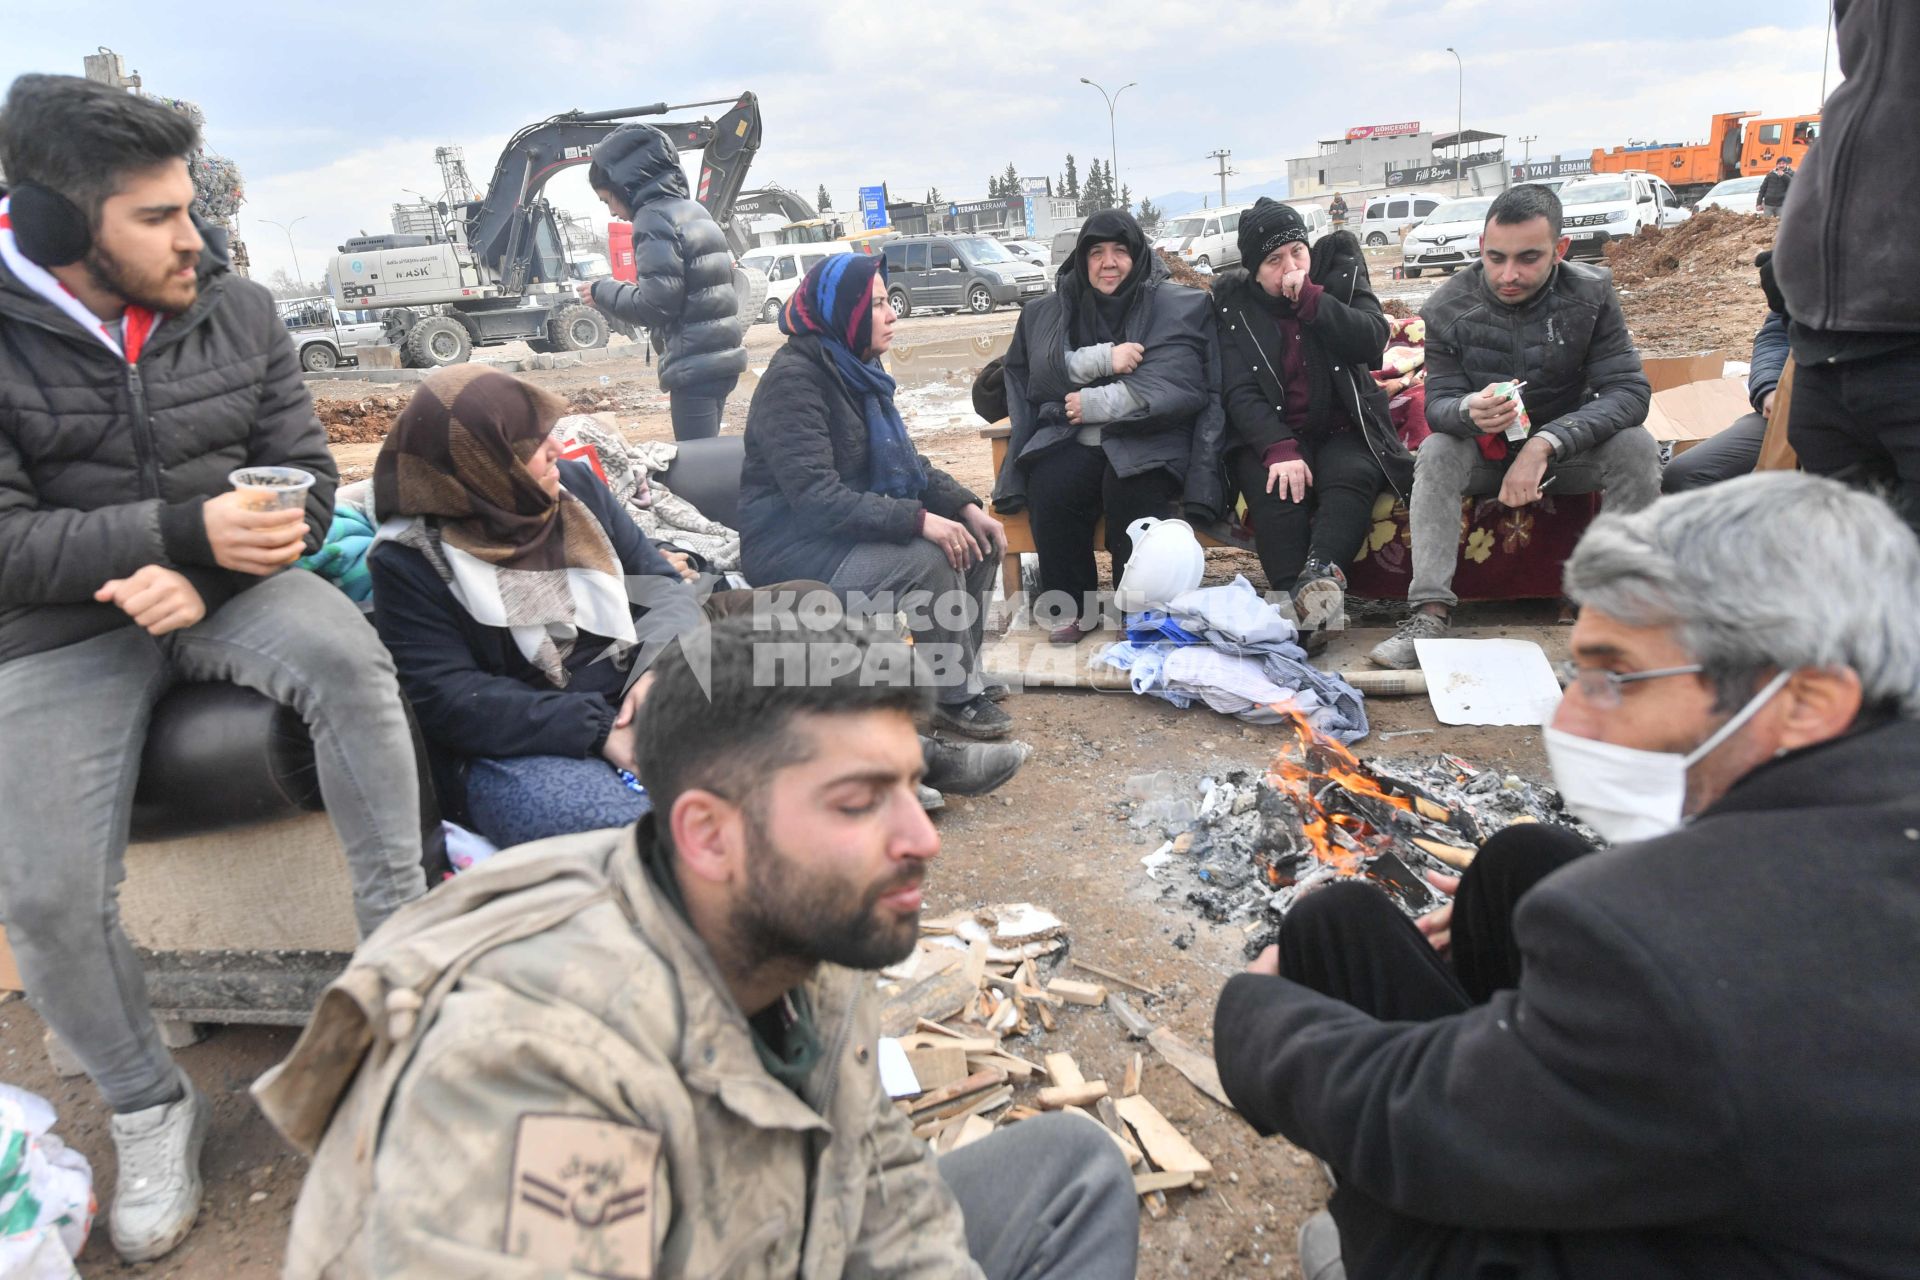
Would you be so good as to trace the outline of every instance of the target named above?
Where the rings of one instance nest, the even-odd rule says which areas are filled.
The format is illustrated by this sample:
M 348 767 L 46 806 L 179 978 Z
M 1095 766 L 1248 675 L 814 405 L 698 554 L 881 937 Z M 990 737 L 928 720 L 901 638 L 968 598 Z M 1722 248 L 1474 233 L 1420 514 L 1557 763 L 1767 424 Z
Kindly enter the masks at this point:
M 1227 466 L 1246 497 L 1267 587 L 1290 591 L 1302 628 L 1346 608 L 1346 568 L 1388 484 L 1413 487 L 1413 455 L 1373 380 L 1386 313 L 1352 232 L 1308 248 L 1300 211 L 1261 198 L 1240 217 L 1240 261 L 1213 286 L 1227 407 Z

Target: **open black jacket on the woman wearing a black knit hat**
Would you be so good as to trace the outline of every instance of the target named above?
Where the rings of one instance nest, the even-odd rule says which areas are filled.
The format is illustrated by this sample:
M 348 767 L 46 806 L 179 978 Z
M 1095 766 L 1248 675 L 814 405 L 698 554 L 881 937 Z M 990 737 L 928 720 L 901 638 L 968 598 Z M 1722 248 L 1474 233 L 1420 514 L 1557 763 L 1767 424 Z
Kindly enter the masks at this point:
M 1340 418 L 1359 426 L 1380 470 L 1405 497 L 1413 489 L 1413 455 L 1400 441 L 1386 393 L 1371 372 L 1386 349 L 1388 324 L 1354 232 L 1336 230 L 1313 246 L 1308 280 L 1321 286 L 1311 319 L 1300 320 L 1311 393 L 1331 397 Z M 1231 432 L 1227 443 L 1263 455 L 1275 443 L 1292 439 L 1292 428 L 1286 424 L 1286 388 L 1275 367 L 1279 351 L 1258 338 L 1271 328 L 1256 328 L 1261 307 L 1258 290 L 1254 276 L 1235 267 L 1213 284 L 1213 307 L 1221 338 L 1221 401 Z

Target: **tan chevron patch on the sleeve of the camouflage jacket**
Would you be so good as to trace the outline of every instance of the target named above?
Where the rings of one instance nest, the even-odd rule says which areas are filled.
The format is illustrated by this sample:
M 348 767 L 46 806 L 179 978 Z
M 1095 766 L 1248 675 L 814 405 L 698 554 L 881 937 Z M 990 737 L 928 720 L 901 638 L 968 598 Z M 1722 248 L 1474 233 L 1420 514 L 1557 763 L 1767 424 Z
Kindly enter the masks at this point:
M 607 1280 L 651 1280 L 660 1134 L 586 1115 L 522 1115 L 507 1253 Z

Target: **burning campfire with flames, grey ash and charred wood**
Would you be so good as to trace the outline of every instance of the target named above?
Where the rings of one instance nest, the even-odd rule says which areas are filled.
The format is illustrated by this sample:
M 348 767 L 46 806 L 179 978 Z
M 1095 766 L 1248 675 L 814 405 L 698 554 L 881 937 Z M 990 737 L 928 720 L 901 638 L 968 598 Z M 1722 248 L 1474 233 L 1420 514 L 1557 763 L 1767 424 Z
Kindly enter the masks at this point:
M 1294 723 L 1294 741 L 1261 775 L 1200 779 L 1175 794 L 1171 775 L 1129 781 L 1131 821 L 1169 839 L 1140 862 L 1160 879 L 1173 867 L 1198 881 L 1187 902 L 1213 923 L 1244 923 L 1263 946 L 1302 892 L 1336 877 L 1380 885 L 1407 915 L 1448 902 L 1427 873 L 1457 875 L 1490 835 L 1513 823 L 1572 821 L 1549 787 L 1476 770 L 1459 756 L 1357 760 Z

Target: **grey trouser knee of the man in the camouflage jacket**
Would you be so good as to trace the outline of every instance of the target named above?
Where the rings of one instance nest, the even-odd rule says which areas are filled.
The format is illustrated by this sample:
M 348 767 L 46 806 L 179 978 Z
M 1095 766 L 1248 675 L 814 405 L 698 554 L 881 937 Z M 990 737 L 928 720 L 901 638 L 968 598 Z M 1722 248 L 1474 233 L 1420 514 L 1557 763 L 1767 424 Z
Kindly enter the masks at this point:
M 1133 1280 L 1140 1199 L 1114 1140 L 1073 1115 L 1021 1121 L 941 1157 L 987 1280 Z

